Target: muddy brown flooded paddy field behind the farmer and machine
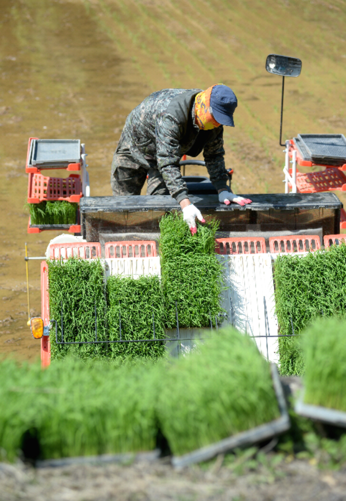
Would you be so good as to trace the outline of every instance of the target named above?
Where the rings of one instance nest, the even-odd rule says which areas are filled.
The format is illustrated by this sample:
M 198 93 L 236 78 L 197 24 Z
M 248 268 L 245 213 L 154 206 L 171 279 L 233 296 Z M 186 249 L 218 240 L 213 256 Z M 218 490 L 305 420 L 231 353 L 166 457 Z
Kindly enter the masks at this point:
M 345 20 L 341 0 L 3 0 L 0 354 L 39 357 L 27 327 L 24 246 L 42 256 L 56 235 L 27 233 L 29 137 L 80 138 L 91 194 L 110 195 L 112 155 L 134 106 L 165 87 L 224 83 L 239 99 L 236 127 L 225 131 L 234 190 L 282 192 L 281 79 L 265 72 L 266 55 L 303 60 L 301 76 L 286 83 L 284 137 L 343 132 Z M 205 170 L 186 172 L 195 173 Z M 40 262 L 30 262 L 29 275 L 30 315 L 39 315 Z

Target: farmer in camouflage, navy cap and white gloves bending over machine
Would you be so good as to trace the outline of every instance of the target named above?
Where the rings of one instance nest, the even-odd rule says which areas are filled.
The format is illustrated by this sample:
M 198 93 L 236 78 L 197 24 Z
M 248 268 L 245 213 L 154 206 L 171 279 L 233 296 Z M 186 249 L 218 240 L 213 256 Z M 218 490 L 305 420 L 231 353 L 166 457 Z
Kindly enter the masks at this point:
M 206 91 L 164 89 L 145 98 L 127 117 L 114 153 L 113 195 L 140 195 L 148 174 L 147 195 L 171 194 L 195 233 L 196 218 L 205 220 L 188 198 L 179 161 L 183 155 L 196 157 L 203 151 L 220 202 L 250 203 L 227 186 L 223 125 L 234 127 L 236 107 L 237 98 L 225 85 Z

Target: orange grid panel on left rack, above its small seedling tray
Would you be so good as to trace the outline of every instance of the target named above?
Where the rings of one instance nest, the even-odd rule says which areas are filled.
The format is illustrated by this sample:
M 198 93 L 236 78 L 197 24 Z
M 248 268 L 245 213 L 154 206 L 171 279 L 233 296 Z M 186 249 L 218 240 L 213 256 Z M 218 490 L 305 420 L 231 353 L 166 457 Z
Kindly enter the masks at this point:
M 79 202 L 82 193 L 81 176 L 70 174 L 69 177 L 50 177 L 43 174 L 29 174 L 28 203 L 43 200 L 66 200 Z

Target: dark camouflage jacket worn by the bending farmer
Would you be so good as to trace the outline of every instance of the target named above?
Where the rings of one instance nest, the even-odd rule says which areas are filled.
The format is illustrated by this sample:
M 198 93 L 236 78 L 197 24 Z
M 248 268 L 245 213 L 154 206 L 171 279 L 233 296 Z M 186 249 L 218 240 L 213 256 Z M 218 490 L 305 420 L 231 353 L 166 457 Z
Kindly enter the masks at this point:
M 210 181 L 227 188 L 223 127 L 200 130 L 194 121 L 194 98 L 200 89 L 164 89 L 144 99 L 127 117 L 122 138 L 131 156 L 145 167 L 157 168 L 171 193 L 180 202 L 187 197 L 179 161 L 184 154 L 203 151 Z

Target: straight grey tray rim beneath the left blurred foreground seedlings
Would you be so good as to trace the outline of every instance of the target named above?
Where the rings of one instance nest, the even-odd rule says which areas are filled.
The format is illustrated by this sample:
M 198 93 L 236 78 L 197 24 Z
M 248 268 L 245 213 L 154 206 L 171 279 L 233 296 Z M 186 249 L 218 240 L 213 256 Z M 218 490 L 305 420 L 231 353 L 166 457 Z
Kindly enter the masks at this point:
M 133 464 L 139 462 L 153 462 L 159 459 L 160 449 L 149 450 L 148 452 L 123 452 L 121 454 L 100 454 L 97 456 L 77 456 L 62 457 L 59 459 L 44 459 L 36 461 L 36 468 L 58 468 L 60 466 L 70 466 L 74 464 Z

